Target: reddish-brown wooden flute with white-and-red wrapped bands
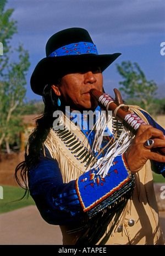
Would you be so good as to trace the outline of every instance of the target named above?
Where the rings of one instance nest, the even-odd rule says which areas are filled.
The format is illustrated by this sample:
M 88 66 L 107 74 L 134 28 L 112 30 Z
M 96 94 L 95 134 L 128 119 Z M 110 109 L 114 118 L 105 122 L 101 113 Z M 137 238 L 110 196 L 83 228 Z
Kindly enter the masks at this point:
M 146 124 L 137 114 L 122 109 L 122 105 L 117 106 L 114 99 L 107 93 L 100 92 L 96 89 L 91 89 L 90 94 L 95 97 L 98 104 L 106 110 L 112 111 L 113 116 L 120 121 L 124 127 L 136 135 L 141 124 Z M 161 155 L 165 155 L 165 148 L 152 148 Z

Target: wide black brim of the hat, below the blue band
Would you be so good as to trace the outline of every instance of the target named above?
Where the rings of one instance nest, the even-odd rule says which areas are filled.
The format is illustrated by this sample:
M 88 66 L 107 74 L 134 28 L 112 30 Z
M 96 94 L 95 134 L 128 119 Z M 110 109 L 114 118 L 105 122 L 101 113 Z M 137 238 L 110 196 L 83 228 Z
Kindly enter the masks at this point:
M 105 55 L 81 54 L 43 58 L 38 62 L 31 75 L 31 89 L 37 95 L 42 96 L 45 85 L 48 83 L 53 84 L 57 78 L 75 72 L 86 65 L 100 66 L 103 72 L 120 55 L 120 53 Z

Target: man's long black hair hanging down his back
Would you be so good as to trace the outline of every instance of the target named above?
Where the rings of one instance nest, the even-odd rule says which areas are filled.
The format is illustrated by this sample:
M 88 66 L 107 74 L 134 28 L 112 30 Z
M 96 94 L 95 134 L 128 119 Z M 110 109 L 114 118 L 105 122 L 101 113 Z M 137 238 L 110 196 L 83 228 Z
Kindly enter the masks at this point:
M 55 84 L 60 86 L 61 79 L 58 79 Z M 50 84 L 45 86 L 42 98 L 45 103 L 45 108 L 43 114 L 36 119 L 36 127 L 30 134 L 27 143 L 28 154 L 25 153 L 25 160 L 22 161 L 15 169 L 15 180 L 19 186 L 25 189 L 23 197 L 25 197 L 26 194 L 29 194 L 27 172 L 32 166 L 35 167 L 38 164 L 41 148 L 43 147 L 43 143 L 53 126 L 53 112 L 58 109 L 62 109 L 63 107 L 62 105 L 61 107 L 58 106 L 58 97 L 53 92 Z

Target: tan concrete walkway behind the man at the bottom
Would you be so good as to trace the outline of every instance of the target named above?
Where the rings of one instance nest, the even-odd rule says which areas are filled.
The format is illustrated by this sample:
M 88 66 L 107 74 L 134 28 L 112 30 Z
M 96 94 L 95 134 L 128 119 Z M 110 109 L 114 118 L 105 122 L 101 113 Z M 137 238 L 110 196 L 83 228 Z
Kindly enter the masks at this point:
M 165 212 L 160 213 L 165 237 Z M 62 245 L 59 226 L 43 221 L 36 206 L 0 215 L 0 245 Z

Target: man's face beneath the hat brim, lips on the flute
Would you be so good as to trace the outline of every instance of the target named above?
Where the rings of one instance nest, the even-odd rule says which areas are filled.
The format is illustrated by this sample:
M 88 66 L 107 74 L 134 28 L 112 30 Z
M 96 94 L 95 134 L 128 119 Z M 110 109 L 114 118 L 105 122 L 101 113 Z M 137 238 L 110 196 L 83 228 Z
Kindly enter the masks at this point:
M 102 92 L 103 76 L 100 67 L 90 67 L 81 72 L 67 74 L 62 77 L 62 84 L 56 95 L 62 96 L 66 106 L 71 110 L 96 108 L 98 103 L 90 95 L 91 89 Z M 52 87 L 53 88 L 53 87 Z

